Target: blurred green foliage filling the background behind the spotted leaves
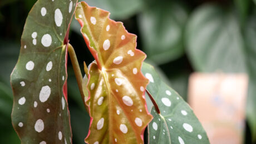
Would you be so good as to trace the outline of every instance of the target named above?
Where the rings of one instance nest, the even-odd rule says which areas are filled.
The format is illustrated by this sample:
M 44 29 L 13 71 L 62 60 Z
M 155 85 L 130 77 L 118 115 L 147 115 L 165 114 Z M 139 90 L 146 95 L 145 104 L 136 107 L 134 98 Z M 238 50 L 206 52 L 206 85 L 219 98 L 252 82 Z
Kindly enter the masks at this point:
M 161 77 L 186 100 L 188 78 L 194 71 L 250 76 L 245 143 L 256 142 L 256 0 L 85 0 L 111 12 L 147 55 Z M 11 124 L 12 89 L 9 75 L 17 62 L 20 38 L 36 0 L 0 1 L 0 143 L 19 143 Z M 79 63 L 93 60 L 73 21 L 70 43 Z M 82 68 L 82 67 L 81 67 Z M 82 71 L 83 72 L 83 71 Z M 84 74 L 84 73 L 83 73 Z M 83 143 L 90 117 L 85 111 L 71 63 L 68 63 L 68 104 L 73 143 Z

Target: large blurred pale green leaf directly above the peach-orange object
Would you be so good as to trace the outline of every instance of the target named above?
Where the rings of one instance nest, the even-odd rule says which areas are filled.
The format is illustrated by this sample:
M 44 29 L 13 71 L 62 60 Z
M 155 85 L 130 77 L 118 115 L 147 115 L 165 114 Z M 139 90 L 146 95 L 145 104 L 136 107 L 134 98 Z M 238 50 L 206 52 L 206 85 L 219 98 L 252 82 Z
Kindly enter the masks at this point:
M 186 45 L 197 71 L 246 71 L 242 34 L 232 10 L 213 4 L 196 9 L 186 28 Z

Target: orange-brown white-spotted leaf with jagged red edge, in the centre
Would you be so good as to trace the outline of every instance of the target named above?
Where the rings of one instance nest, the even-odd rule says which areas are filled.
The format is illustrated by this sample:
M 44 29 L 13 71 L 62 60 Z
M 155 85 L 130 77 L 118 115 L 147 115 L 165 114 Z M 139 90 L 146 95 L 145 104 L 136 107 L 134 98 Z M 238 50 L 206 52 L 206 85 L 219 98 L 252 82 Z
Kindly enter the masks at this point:
M 136 35 L 109 19 L 109 12 L 85 2 L 78 3 L 75 15 L 96 59 L 89 66 L 91 125 L 86 142 L 143 143 L 152 116 L 144 98 L 148 80 L 140 71 L 146 55 L 135 49 Z

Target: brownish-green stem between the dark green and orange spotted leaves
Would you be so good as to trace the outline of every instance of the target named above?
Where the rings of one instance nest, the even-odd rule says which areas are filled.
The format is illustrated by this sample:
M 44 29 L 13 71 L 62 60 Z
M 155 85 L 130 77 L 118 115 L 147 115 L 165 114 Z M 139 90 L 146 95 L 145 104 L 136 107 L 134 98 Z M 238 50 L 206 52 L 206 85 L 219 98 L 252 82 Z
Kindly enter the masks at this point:
M 79 91 L 80 91 L 80 94 L 81 94 L 81 97 L 82 97 L 82 100 L 83 100 L 83 104 L 85 105 L 85 107 L 87 107 L 86 104 L 85 104 L 85 100 L 84 100 L 85 99 L 85 95 L 83 94 L 83 86 L 82 86 L 83 77 L 82 77 L 82 73 L 81 73 L 81 70 L 80 70 L 77 58 L 76 58 L 75 50 L 73 49 L 73 47 L 72 47 L 72 45 L 70 43 L 68 43 L 68 54 L 70 55 L 71 63 L 72 63 L 72 66 L 73 66 L 73 70 L 75 72 L 76 81 L 77 81 L 77 85 L 78 85 L 78 88 L 79 88 Z M 88 73 L 88 70 L 87 70 L 87 73 Z

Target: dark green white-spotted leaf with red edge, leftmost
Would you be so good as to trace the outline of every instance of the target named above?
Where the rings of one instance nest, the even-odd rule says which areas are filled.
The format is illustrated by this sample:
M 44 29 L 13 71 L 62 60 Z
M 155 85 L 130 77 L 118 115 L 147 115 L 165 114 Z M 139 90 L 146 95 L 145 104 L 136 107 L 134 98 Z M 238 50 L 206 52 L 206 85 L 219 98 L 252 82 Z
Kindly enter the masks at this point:
M 76 0 L 39 0 L 29 12 L 11 75 L 13 127 L 21 143 L 71 143 L 67 38 Z

